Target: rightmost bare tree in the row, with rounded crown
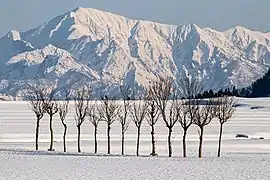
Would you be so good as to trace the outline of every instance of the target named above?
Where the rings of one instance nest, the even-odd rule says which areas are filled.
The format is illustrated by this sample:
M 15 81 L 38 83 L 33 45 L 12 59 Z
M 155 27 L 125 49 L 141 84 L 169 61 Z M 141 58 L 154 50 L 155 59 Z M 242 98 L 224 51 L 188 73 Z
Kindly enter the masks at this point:
M 222 96 L 218 97 L 216 100 L 216 116 L 219 119 L 220 130 L 219 130 L 219 139 L 218 139 L 218 157 L 220 157 L 221 151 L 221 141 L 223 133 L 223 125 L 230 118 L 232 118 L 236 108 L 235 105 L 237 101 L 234 97 Z

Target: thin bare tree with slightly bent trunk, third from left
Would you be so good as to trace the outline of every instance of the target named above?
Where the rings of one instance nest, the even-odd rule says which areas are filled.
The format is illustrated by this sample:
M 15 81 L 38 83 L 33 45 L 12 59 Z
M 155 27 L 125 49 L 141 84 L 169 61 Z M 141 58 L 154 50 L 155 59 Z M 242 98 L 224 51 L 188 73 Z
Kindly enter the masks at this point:
M 58 114 L 59 114 L 59 118 L 61 120 L 61 123 L 64 127 L 64 133 L 63 133 L 63 148 L 64 148 L 64 152 L 67 151 L 66 148 L 66 134 L 67 134 L 67 124 L 65 122 L 67 113 L 68 113 L 68 109 L 69 109 L 69 91 L 66 90 L 66 97 L 63 101 L 59 102 L 58 104 Z

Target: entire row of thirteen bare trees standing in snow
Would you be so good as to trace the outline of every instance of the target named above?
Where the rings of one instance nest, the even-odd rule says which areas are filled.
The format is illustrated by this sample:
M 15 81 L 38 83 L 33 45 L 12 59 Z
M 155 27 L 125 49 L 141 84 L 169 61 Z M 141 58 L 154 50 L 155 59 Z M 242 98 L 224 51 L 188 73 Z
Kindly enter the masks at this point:
M 116 101 L 108 96 L 101 97 L 100 101 L 90 101 L 91 88 L 83 87 L 71 95 L 66 92 L 65 101 L 57 101 L 55 90 L 31 88 L 29 93 L 29 106 L 36 115 L 36 150 L 38 150 L 39 123 L 44 114 L 49 115 L 49 129 L 51 143 L 49 151 L 53 151 L 53 117 L 59 114 L 61 123 L 64 127 L 63 147 L 66 152 L 67 124 L 66 116 L 69 110 L 70 100 L 74 101 L 75 122 L 78 132 L 78 152 L 81 152 L 80 136 L 81 126 L 86 119 L 94 126 L 94 145 L 95 153 L 98 152 L 97 129 L 99 122 L 106 122 L 107 125 L 107 147 L 108 154 L 111 153 L 110 132 L 111 126 L 115 121 L 121 125 L 121 153 L 124 155 L 125 133 L 130 123 L 133 122 L 137 128 L 137 148 L 136 154 L 139 155 L 140 134 L 142 123 L 146 120 L 151 127 L 151 155 L 156 156 L 155 148 L 155 125 L 162 119 L 168 129 L 168 155 L 172 156 L 172 132 L 175 124 L 180 123 L 183 129 L 183 157 L 187 157 L 186 137 L 192 125 L 198 127 L 199 131 L 199 157 L 202 157 L 203 136 L 205 127 L 213 119 L 220 122 L 220 134 L 218 143 L 218 157 L 221 151 L 221 141 L 223 125 L 234 114 L 236 101 L 233 97 L 223 96 L 215 99 L 195 99 L 196 95 L 202 91 L 202 86 L 197 79 L 188 76 L 179 82 L 178 87 L 174 85 L 170 78 L 159 78 L 147 89 L 145 95 L 137 100 L 131 100 L 131 91 L 128 87 L 120 86 L 122 95 L 121 101 Z

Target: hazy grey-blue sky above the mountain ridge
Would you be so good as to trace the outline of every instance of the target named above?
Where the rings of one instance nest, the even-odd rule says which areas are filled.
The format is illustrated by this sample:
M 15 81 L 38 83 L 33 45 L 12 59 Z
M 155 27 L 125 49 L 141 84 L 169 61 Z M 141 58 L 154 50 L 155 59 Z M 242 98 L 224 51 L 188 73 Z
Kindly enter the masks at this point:
M 133 19 L 195 23 L 225 30 L 235 25 L 270 29 L 270 0 L 2 0 L 0 36 L 35 28 L 76 7 L 107 10 Z

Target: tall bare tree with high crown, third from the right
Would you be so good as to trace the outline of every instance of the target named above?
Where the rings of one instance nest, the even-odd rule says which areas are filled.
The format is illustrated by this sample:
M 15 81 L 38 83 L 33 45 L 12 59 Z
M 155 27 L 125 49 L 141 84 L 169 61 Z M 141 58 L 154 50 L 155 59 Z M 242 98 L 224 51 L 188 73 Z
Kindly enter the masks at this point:
M 191 79 L 186 75 L 180 80 L 179 86 L 181 95 L 185 99 L 179 112 L 179 122 L 183 129 L 183 157 L 187 157 L 186 136 L 199 110 L 200 100 L 195 97 L 202 92 L 202 84 L 197 78 Z

